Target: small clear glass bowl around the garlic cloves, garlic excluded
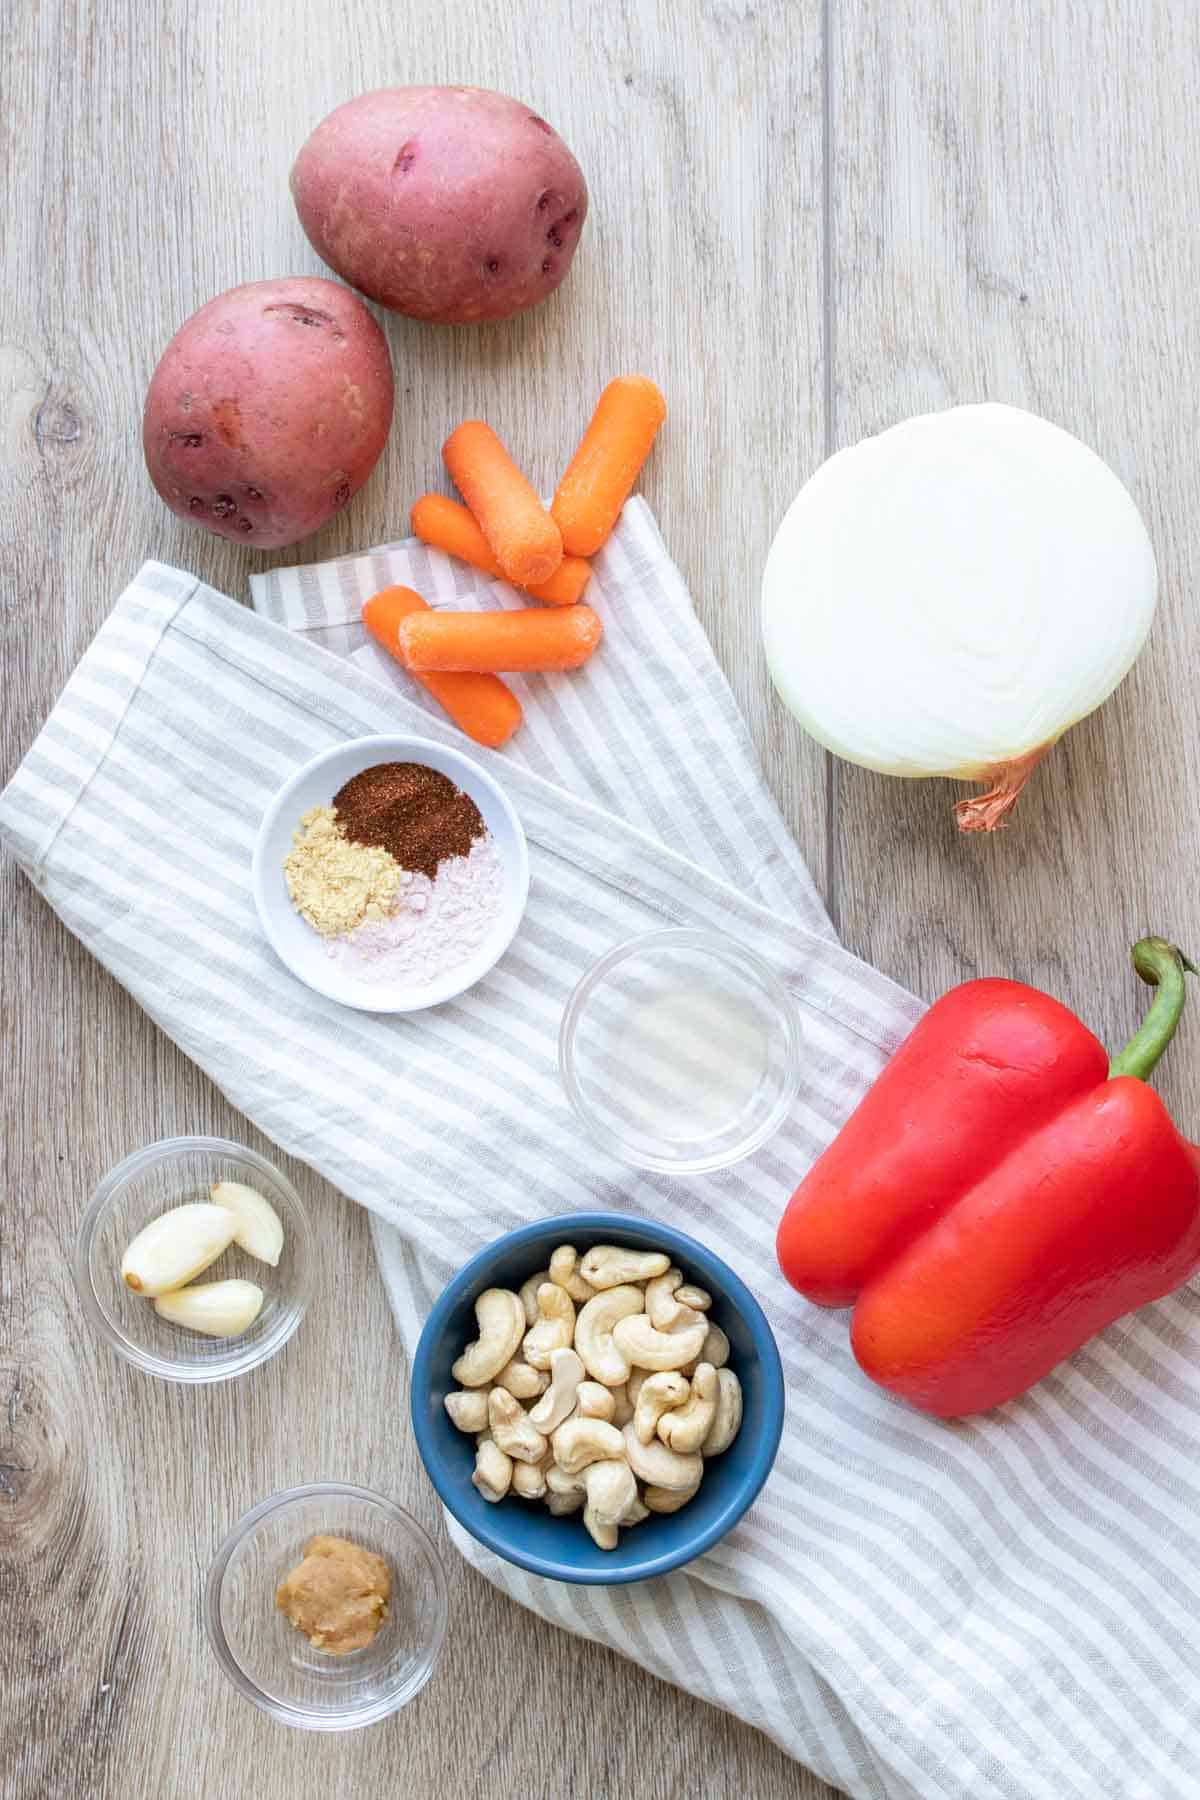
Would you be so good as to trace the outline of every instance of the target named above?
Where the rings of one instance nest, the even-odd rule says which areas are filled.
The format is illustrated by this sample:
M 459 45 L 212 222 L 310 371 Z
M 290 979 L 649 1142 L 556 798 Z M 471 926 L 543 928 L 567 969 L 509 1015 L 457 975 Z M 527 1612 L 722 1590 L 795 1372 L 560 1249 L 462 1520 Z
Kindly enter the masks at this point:
M 153 1300 L 130 1292 L 121 1258 L 151 1219 L 207 1201 L 216 1181 L 257 1188 L 282 1224 L 275 1269 L 236 1244 L 198 1282 L 241 1276 L 263 1289 L 263 1310 L 239 1337 L 205 1337 L 169 1325 Z M 227 1138 L 164 1138 L 117 1163 L 92 1195 L 76 1244 L 76 1285 L 88 1319 L 128 1363 L 162 1381 L 232 1381 L 281 1350 L 308 1309 L 313 1282 L 313 1235 L 308 1213 L 286 1175 L 264 1157 Z

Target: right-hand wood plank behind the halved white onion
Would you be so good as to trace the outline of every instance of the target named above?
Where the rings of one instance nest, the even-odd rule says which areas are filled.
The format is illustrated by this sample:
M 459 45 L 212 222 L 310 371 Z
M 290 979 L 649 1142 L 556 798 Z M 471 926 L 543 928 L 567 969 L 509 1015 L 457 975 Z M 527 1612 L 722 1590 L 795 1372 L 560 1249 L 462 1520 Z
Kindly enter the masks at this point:
M 948 783 L 842 770 L 844 934 L 930 999 L 973 974 L 1031 979 L 1117 1046 L 1144 1006 L 1128 945 L 1200 941 L 1200 13 L 846 5 L 835 58 L 837 443 L 959 401 L 1029 407 L 1128 482 L 1162 578 L 1133 675 L 1007 832 L 959 837 Z M 1184 1121 L 1193 1008 L 1160 1078 Z

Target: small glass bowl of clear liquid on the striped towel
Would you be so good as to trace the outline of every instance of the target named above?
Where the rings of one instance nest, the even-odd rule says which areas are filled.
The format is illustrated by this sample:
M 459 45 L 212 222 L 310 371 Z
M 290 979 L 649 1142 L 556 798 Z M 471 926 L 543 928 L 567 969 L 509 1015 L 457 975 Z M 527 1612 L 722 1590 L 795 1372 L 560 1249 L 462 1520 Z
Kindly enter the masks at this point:
M 752 950 L 711 931 L 651 931 L 608 950 L 567 1001 L 567 1098 L 635 1168 L 703 1174 L 750 1156 L 801 1080 L 795 1001 Z

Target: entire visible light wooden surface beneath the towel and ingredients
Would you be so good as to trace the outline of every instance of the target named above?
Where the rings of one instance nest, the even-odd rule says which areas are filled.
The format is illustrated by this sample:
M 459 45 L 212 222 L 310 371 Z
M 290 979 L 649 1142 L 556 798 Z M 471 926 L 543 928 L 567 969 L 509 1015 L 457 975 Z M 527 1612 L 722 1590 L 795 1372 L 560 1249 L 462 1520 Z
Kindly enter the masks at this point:
M 981 970 L 1042 981 L 1121 1039 L 1139 1008 L 1128 941 L 1200 941 L 1189 0 L 13 0 L 0 774 L 144 556 L 232 594 L 266 562 L 158 504 L 144 385 L 200 302 L 318 266 L 286 189 L 313 124 L 367 86 L 450 79 L 516 92 L 563 130 L 592 187 L 583 248 L 561 293 L 507 326 L 387 320 L 389 450 L 300 554 L 401 531 L 459 418 L 495 419 L 549 481 L 599 385 L 655 373 L 671 423 L 646 493 L 849 945 L 927 997 Z M 770 697 L 756 605 L 774 524 L 826 450 L 984 396 L 1078 430 L 1126 477 L 1164 603 L 1132 680 L 1054 752 L 1011 832 L 968 842 L 948 785 L 826 765 Z M 0 1791 L 829 1795 L 452 1552 L 448 1649 L 399 1719 L 309 1739 L 225 1687 L 198 1593 L 252 1501 L 344 1476 L 443 1537 L 365 1219 L 290 1170 L 324 1291 L 236 1388 L 175 1391 L 101 1350 L 67 1256 L 104 1168 L 176 1130 L 268 1147 L 7 860 L 0 882 Z M 1198 1046 L 1200 1010 L 1162 1080 L 1193 1123 Z M 581 1706 L 612 1728 L 581 1726 Z

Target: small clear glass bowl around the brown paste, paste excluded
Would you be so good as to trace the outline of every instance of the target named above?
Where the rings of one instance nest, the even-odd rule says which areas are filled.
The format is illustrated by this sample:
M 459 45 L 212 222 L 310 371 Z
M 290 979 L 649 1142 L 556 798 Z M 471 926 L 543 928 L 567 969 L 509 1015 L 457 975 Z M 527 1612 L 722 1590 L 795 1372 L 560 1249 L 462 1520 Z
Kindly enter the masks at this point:
M 275 1588 L 317 1534 L 347 1537 L 392 1570 L 389 1616 L 345 1656 L 315 1649 L 275 1606 Z M 272 1494 L 218 1550 L 203 1597 L 209 1642 L 239 1694 L 308 1732 L 351 1732 L 419 1694 L 446 1634 L 446 1577 L 417 1521 L 381 1494 L 315 1481 Z

